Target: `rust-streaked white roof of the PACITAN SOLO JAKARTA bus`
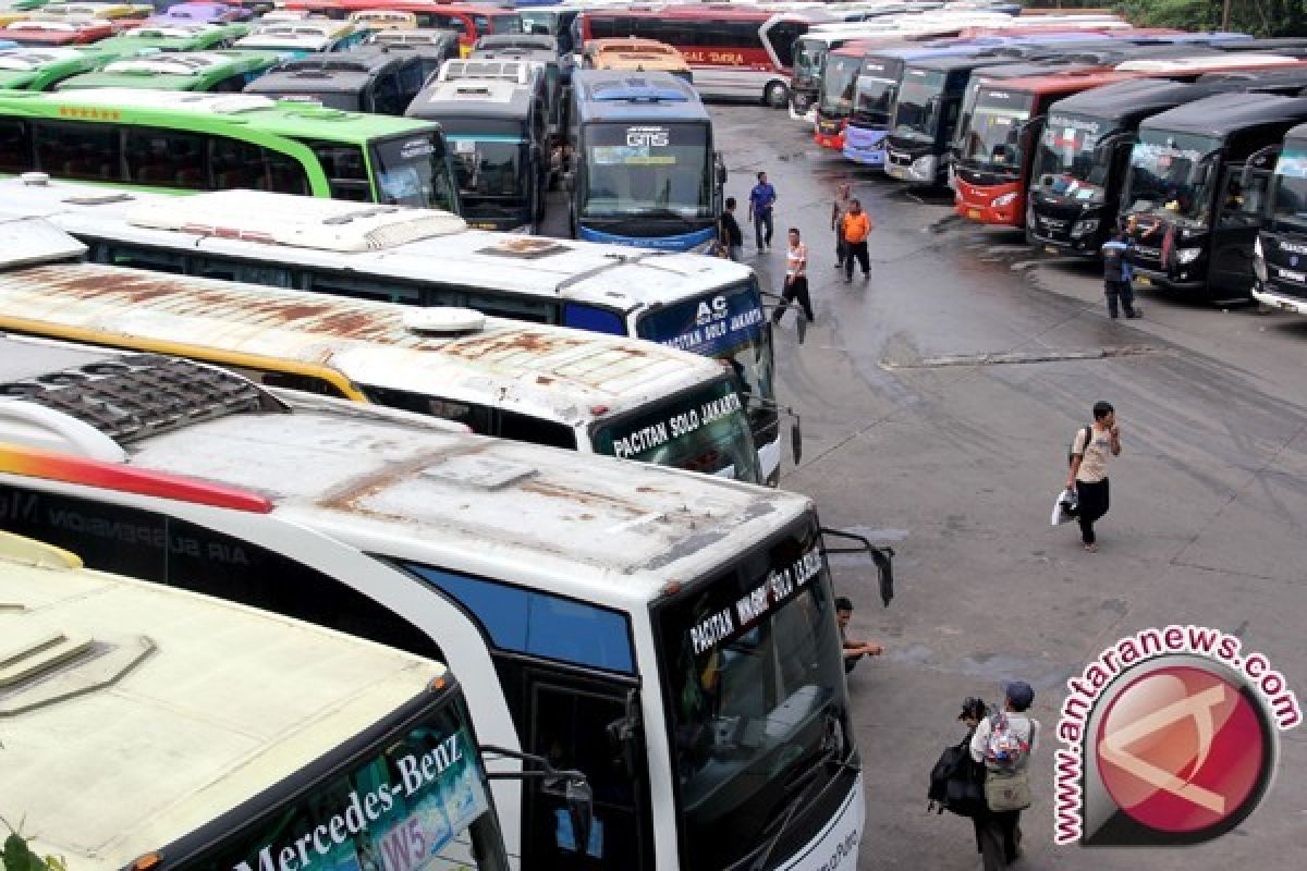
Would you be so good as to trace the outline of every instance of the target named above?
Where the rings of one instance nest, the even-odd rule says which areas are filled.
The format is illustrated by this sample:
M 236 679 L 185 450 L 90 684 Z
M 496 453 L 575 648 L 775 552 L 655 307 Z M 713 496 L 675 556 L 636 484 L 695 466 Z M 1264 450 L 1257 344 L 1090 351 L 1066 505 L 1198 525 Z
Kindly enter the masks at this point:
M 723 375 L 706 356 L 562 326 L 477 317 L 461 334 L 423 332 L 417 321 L 440 312 L 98 264 L 0 273 L 0 326 L 16 332 L 251 368 L 289 360 L 572 427 Z

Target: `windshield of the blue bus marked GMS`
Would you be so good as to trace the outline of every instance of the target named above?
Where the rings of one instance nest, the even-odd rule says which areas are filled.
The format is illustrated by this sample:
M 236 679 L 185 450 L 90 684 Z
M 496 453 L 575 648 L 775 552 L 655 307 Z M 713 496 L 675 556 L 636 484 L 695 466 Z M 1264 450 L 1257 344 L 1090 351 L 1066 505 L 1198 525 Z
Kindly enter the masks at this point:
M 582 217 L 712 217 L 706 124 L 588 124 Z

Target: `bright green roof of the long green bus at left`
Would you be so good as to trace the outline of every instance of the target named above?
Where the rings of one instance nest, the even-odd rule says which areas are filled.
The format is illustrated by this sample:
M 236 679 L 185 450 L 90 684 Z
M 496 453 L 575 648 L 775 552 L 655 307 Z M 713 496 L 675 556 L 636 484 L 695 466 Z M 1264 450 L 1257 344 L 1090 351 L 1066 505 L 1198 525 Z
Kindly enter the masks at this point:
M 46 93 L 0 94 L 0 111 L 14 116 L 76 118 L 81 110 L 101 110 L 116 121 L 167 125 L 186 115 L 209 124 L 248 124 L 278 136 L 323 136 L 331 121 L 333 141 L 358 142 L 435 129 L 431 124 L 387 115 L 346 112 L 320 106 L 278 103 L 255 94 L 197 94 L 128 87 L 98 87 Z M 88 112 L 89 115 L 89 112 Z

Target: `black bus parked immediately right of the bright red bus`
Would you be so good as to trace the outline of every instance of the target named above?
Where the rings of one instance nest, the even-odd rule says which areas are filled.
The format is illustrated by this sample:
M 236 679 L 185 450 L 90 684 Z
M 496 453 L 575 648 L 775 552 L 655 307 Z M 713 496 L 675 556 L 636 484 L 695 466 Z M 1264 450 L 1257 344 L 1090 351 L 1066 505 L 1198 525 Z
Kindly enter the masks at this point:
M 1131 146 L 1145 118 L 1226 91 L 1302 87 L 1307 69 L 1197 82 L 1136 78 L 1064 97 L 1048 110 L 1030 171 L 1026 238 L 1050 253 L 1098 257 L 1116 226 Z

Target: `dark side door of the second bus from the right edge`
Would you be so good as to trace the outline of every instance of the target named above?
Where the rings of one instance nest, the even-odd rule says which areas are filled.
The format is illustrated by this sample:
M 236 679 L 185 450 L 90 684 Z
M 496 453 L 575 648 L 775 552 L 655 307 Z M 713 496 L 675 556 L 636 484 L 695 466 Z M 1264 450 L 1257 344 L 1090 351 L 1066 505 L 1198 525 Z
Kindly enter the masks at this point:
M 1251 166 L 1226 163 L 1222 167 L 1216 219 L 1212 222 L 1209 291 L 1252 293 L 1256 282 L 1252 249 L 1261 229 L 1261 212 L 1274 162 L 1274 154 L 1270 154 Z M 1176 268 L 1184 269 L 1183 265 Z

